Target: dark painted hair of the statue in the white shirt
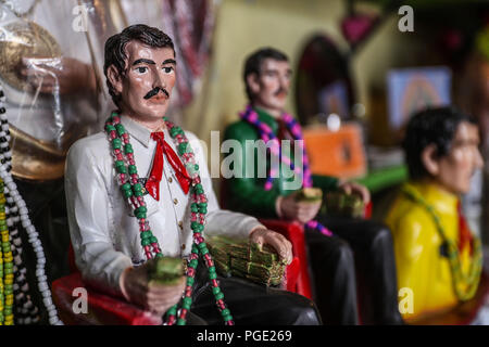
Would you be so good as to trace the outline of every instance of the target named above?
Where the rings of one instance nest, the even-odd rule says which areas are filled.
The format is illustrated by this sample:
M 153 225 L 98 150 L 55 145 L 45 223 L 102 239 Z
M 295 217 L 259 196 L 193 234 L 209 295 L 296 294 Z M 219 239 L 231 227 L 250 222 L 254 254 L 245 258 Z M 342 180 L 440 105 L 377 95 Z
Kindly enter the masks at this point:
M 133 40 L 140 41 L 149 47 L 170 47 L 175 53 L 172 39 L 159 28 L 150 27 L 145 24 L 128 26 L 120 34 L 111 36 L 105 42 L 105 62 L 103 64 L 103 73 L 105 74 L 105 78 L 106 72 L 111 65 L 115 66 L 121 76 L 124 76 L 127 60 L 125 48 L 126 44 Z M 109 87 L 109 93 L 111 94 L 112 100 L 117 106 L 120 106 L 118 101 L 121 95 L 116 93 L 114 87 L 109 81 L 109 78 L 106 78 L 106 86 Z

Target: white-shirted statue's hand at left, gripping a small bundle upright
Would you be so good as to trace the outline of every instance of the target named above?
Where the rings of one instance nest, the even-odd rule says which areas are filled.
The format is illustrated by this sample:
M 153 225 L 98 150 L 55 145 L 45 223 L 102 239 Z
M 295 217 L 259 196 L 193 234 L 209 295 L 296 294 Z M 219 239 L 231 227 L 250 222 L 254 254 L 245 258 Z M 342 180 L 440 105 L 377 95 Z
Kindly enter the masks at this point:
M 180 300 L 186 281 L 184 275 L 172 284 L 150 281 L 148 274 L 150 266 L 147 262 L 140 267 L 124 270 L 120 280 L 121 288 L 128 301 L 162 316 Z

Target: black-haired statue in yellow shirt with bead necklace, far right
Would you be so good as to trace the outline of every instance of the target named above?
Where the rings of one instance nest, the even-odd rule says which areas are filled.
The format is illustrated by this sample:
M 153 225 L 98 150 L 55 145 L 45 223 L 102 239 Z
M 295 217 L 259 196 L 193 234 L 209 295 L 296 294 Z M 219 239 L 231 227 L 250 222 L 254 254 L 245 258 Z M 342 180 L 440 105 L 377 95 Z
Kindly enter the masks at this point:
M 392 230 L 400 307 L 409 322 L 471 299 L 481 271 L 481 247 L 460 210 L 475 169 L 482 166 L 478 128 L 451 107 L 413 116 L 403 143 L 410 182 L 387 215 Z M 403 297 L 400 300 L 404 300 Z

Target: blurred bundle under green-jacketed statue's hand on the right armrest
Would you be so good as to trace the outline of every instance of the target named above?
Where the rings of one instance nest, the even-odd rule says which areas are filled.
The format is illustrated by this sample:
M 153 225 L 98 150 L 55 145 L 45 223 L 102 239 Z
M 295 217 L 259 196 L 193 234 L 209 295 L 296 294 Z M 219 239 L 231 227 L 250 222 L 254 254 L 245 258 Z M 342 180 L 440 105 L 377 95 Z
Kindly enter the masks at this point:
M 326 194 L 326 213 L 334 217 L 362 218 L 365 214 L 365 204 L 358 194 L 329 192 Z

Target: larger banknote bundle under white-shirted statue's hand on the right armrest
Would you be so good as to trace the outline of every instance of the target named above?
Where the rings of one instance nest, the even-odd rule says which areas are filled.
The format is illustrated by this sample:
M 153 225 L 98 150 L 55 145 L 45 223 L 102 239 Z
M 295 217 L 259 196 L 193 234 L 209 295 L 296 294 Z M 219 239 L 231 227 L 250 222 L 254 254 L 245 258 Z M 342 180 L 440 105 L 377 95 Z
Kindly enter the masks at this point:
M 247 240 L 222 236 L 208 239 L 216 270 L 222 275 L 236 275 L 265 285 L 280 284 L 286 264 L 268 246 L 260 247 Z

